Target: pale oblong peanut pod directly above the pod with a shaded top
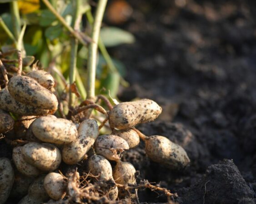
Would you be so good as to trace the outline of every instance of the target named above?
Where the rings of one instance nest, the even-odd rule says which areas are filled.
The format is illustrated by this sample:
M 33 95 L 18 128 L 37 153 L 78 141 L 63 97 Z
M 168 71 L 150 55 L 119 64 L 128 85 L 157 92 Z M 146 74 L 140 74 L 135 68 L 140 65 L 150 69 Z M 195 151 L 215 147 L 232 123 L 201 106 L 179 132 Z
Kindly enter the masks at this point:
M 76 126 L 63 118 L 43 116 L 32 124 L 32 132 L 37 139 L 58 145 L 69 144 L 77 138 Z

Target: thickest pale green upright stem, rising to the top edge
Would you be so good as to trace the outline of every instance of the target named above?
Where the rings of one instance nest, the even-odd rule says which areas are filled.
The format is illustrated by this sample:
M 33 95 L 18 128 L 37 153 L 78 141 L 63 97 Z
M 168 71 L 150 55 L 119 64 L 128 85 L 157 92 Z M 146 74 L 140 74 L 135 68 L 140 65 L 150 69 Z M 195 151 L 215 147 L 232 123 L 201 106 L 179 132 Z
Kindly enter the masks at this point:
M 93 43 L 89 45 L 89 56 L 88 56 L 88 73 L 87 73 L 87 98 L 95 98 L 95 75 L 96 75 L 96 58 L 98 40 L 100 35 L 100 26 L 103 19 L 107 0 L 99 0 L 97 5 L 95 20 L 92 27 L 91 38 Z

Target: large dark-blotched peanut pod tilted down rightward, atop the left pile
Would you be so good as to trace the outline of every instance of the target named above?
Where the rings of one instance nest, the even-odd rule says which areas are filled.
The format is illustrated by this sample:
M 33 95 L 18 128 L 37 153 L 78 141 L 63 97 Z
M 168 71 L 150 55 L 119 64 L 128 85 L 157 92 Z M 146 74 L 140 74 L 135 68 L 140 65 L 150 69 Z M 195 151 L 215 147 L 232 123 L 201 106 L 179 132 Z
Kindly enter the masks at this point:
M 10 95 L 15 100 L 33 107 L 55 110 L 58 107 L 57 97 L 33 78 L 15 76 L 8 83 Z

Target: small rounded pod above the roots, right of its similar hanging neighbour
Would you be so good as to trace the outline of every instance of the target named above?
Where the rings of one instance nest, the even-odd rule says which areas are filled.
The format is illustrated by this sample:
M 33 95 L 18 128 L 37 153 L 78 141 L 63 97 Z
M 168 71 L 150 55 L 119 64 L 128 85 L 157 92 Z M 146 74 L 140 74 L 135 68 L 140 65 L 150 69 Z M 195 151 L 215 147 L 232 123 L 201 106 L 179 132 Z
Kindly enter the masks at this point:
M 131 163 L 119 161 L 113 170 L 113 178 L 117 184 L 135 184 L 135 173 L 136 169 Z

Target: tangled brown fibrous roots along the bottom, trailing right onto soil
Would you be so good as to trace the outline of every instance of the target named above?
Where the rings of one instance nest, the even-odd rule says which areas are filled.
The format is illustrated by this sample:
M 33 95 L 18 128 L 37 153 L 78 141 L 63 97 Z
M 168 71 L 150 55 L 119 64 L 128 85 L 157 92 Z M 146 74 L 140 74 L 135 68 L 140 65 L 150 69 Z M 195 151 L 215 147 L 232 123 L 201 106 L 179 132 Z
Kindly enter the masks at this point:
M 92 180 L 95 180 L 94 183 L 91 183 Z M 111 200 L 109 198 L 110 190 L 118 187 L 119 189 L 125 189 L 129 192 L 131 190 L 135 191 L 132 193 L 136 193 L 137 189 L 151 189 L 152 191 L 161 191 L 168 199 L 176 198 L 177 194 L 171 193 L 166 188 L 161 188 L 158 185 L 152 185 L 147 180 L 141 180 L 138 184 L 134 185 L 120 185 L 116 184 L 114 180 L 108 181 L 99 181 L 97 180 L 97 176 L 88 174 L 79 176 L 79 173 L 75 171 L 73 175 L 70 175 L 68 178 L 68 186 L 67 186 L 67 197 L 66 199 L 61 199 L 59 201 L 54 201 L 55 204 L 69 204 L 72 201 L 76 203 L 96 203 L 96 204 L 118 204 L 118 203 L 127 203 L 127 200 Z M 129 191 L 130 190 L 130 191 Z M 128 198 L 129 199 L 129 198 Z M 131 201 L 131 198 L 129 199 Z M 130 203 L 130 202 L 129 202 Z M 48 202 L 47 204 L 53 204 Z

